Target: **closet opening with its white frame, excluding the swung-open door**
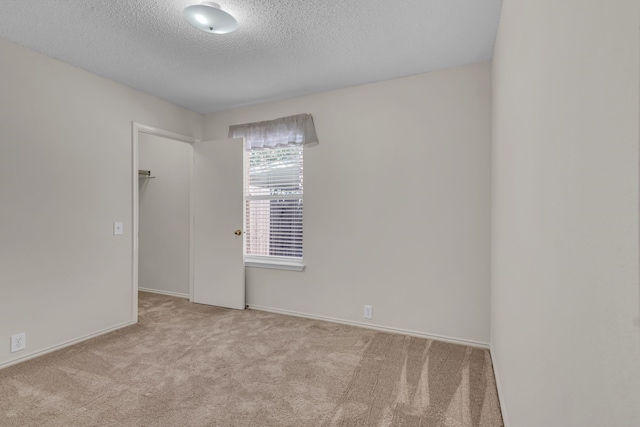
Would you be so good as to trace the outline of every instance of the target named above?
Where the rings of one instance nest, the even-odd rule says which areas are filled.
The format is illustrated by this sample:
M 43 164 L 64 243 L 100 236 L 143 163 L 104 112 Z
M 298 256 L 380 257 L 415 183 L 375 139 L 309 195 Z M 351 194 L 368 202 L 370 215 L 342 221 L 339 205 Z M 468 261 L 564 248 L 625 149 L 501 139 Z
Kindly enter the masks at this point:
M 139 288 L 156 290 L 160 293 L 173 294 L 174 296 L 189 297 L 191 300 L 193 286 L 193 239 L 191 227 L 193 209 L 190 197 L 192 174 L 190 165 L 193 164 L 191 144 L 197 141 L 198 139 L 196 138 L 164 129 L 136 122 L 132 124 L 133 319 L 138 318 Z M 152 144 L 157 144 L 157 147 L 154 148 Z M 142 158 L 141 155 L 143 156 Z M 175 159 L 171 159 L 171 155 L 178 156 L 177 162 Z M 172 171 L 171 166 L 175 166 L 175 163 L 179 166 L 178 170 Z M 146 168 L 143 168 L 143 166 Z M 152 168 L 152 166 L 155 166 L 155 168 Z M 149 173 L 141 173 L 141 170 Z M 172 179 L 177 181 L 172 182 Z M 145 198 L 144 202 L 141 202 L 141 197 Z M 171 202 L 176 204 L 164 210 L 166 206 L 163 206 L 163 204 Z M 143 242 L 142 253 L 140 251 L 141 208 L 145 216 L 142 237 L 147 237 Z M 154 213 L 157 215 L 154 216 Z M 185 215 L 188 215 L 186 224 Z M 150 222 L 147 221 L 149 219 L 151 220 Z M 163 232 L 165 230 L 166 234 Z M 178 239 L 177 247 L 163 244 L 163 242 L 170 242 L 170 238 Z M 186 254 L 180 254 L 176 259 L 171 259 L 172 255 L 178 254 L 179 251 L 184 251 L 185 247 L 187 248 Z M 170 261 L 169 264 L 163 266 L 162 262 L 167 260 Z M 142 270 L 140 269 L 141 262 L 143 263 Z M 169 276 L 161 279 L 160 283 L 158 283 L 156 279 L 161 278 L 162 274 L 169 270 L 166 267 L 171 266 L 178 266 L 177 271 L 171 272 Z M 140 282 L 140 279 L 143 282 Z M 186 279 L 186 285 L 184 279 Z

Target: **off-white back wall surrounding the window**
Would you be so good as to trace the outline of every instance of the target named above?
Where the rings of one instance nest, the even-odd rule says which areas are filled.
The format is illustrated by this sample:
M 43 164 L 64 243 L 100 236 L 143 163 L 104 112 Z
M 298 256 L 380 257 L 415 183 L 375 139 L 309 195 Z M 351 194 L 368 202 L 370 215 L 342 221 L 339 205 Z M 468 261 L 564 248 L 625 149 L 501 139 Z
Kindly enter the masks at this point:
M 306 270 L 247 269 L 251 305 L 489 342 L 490 64 L 205 116 L 229 125 L 298 113 Z

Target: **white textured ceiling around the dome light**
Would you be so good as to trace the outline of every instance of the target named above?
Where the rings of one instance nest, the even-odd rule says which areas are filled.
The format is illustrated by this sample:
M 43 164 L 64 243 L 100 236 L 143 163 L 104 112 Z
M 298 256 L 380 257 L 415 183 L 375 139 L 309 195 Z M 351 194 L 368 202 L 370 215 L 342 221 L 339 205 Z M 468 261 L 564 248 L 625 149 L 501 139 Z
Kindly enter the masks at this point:
M 1 0 L 0 38 L 208 113 L 491 59 L 502 0 Z

